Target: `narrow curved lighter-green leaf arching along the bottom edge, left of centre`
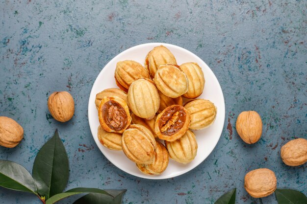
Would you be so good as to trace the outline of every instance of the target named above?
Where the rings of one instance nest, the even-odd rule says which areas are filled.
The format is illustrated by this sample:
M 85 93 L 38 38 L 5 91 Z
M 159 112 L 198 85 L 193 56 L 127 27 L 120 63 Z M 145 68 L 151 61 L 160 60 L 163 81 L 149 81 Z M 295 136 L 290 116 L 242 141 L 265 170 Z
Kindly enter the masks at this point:
M 62 200 L 69 196 L 81 194 L 81 193 L 100 193 L 100 194 L 104 194 L 104 195 L 107 195 L 113 198 L 111 194 L 99 188 L 73 188 L 73 189 L 66 191 L 65 193 L 59 193 L 57 195 L 52 196 L 50 199 L 46 201 L 46 204 L 54 204 L 55 202 L 58 202 L 59 200 Z

